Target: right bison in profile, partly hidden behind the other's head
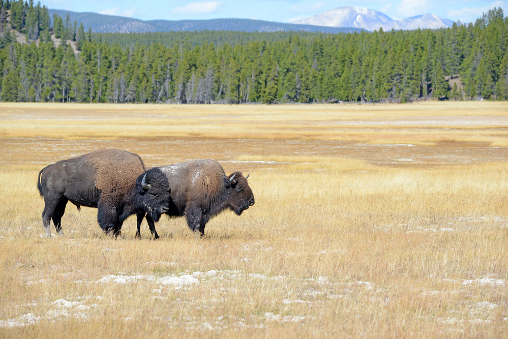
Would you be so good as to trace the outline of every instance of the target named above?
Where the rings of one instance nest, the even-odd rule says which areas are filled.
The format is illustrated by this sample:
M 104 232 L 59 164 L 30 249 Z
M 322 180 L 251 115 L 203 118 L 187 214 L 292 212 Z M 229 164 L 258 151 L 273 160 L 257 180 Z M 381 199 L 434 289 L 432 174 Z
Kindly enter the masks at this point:
M 171 187 L 170 217 L 187 218 L 189 228 L 201 235 L 208 220 L 229 208 L 236 214 L 254 205 L 254 195 L 247 177 L 240 172 L 226 176 L 222 166 L 215 160 L 200 159 L 185 163 L 156 167 L 166 174 Z M 150 229 L 151 220 L 146 220 Z M 140 223 L 136 236 L 140 236 Z

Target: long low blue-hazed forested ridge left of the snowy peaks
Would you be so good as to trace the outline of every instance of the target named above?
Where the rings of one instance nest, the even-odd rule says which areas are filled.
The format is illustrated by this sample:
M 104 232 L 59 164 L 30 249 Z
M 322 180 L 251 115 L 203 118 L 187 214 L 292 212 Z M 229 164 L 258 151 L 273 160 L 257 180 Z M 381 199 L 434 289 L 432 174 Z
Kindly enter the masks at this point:
M 69 14 L 71 22 L 80 22 L 86 29 L 92 28 L 97 33 L 145 33 L 200 30 L 235 30 L 242 32 L 280 32 L 302 30 L 304 32 L 322 33 L 352 33 L 361 32 L 362 28 L 315 26 L 311 24 L 282 23 L 251 19 L 212 19 L 212 20 L 139 20 L 115 15 L 105 15 L 91 12 L 72 12 L 49 9 L 53 13 L 65 17 Z

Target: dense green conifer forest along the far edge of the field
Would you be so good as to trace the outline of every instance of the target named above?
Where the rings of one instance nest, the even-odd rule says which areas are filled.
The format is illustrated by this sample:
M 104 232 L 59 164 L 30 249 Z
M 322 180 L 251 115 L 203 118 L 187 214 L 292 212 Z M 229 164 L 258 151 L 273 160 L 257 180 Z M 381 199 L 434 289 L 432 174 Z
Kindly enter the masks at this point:
M 63 27 L 71 25 L 64 21 Z M 69 28 L 71 32 L 75 27 Z M 273 41 L 253 38 L 234 45 L 193 45 L 182 39 L 169 46 L 160 42 L 126 46 L 108 37 L 85 34 L 81 25 L 74 35 L 79 40 L 77 54 L 65 43 L 55 48 L 45 41 L 39 47 L 0 41 L 5 46 L 0 49 L 0 99 L 109 103 L 508 99 L 508 20 L 500 8 L 474 24 L 438 30 L 306 37 L 291 33 Z M 452 76 L 460 76 L 463 86 L 454 82 L 450 88 L 446 79 Z

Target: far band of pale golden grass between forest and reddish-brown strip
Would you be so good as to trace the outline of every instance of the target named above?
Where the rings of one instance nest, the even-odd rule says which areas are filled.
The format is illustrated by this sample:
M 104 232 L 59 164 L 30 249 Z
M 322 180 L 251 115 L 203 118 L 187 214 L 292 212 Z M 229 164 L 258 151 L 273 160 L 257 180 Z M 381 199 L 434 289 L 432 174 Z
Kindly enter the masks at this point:
M 0 103 L 0 136 L 117 139 L 170 135 L 422 145 L 454 140 L 508 146 L 508 106 L 503 102 L 188 106 Z M 491 117 L 502 119 L 504 125 L 492 125 Z M 471 119 L 474 125 L 468 124 Z

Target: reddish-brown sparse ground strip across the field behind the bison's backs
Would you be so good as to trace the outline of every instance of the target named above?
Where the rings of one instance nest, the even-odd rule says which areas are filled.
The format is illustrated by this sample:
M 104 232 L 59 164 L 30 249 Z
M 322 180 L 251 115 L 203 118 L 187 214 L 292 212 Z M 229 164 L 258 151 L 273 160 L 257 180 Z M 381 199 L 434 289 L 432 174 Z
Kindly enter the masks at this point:
M 237 160 L 245 155 L 338 157 L 390 167 L 435 167 L 508 161 L 508 150 L 505 147 L 490 147 L 485 142 L 376 145 L 352 141 L 195 137 L 116 140 L 4 138 L 1 142 L 0 166 L 46 166 L 102 148 L 119 148 L 138 153 L 149 167 L 204 158 L 215 159 L 231 170 L 276 168 L 281 165 L 262 157 L 257 161 Z

